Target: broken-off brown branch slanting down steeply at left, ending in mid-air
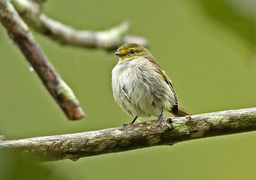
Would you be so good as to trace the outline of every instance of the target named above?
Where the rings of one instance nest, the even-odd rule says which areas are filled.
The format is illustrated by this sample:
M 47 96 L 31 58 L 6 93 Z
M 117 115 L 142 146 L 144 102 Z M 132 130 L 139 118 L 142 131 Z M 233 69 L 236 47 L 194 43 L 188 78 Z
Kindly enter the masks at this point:
M 19 14 L 8 0 L 0 0 L 0 20 L 10 38 L 19 47 L 68 119 L 84 117 L 76 96 L 49 63 L 44 52 L 36 44 L 28 26 L 20 19 Z

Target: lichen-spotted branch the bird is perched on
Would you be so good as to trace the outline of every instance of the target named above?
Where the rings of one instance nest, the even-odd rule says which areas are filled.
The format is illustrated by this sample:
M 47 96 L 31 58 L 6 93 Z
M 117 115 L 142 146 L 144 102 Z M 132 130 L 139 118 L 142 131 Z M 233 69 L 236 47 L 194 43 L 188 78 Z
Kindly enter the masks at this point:
M 143 147 L 173 145 L 185 140 L 256 130 L 256 108 L 227 110 L 67 135 L 0 140 L 0 149 L 18 151 L 44 161 L 117 153 Z

